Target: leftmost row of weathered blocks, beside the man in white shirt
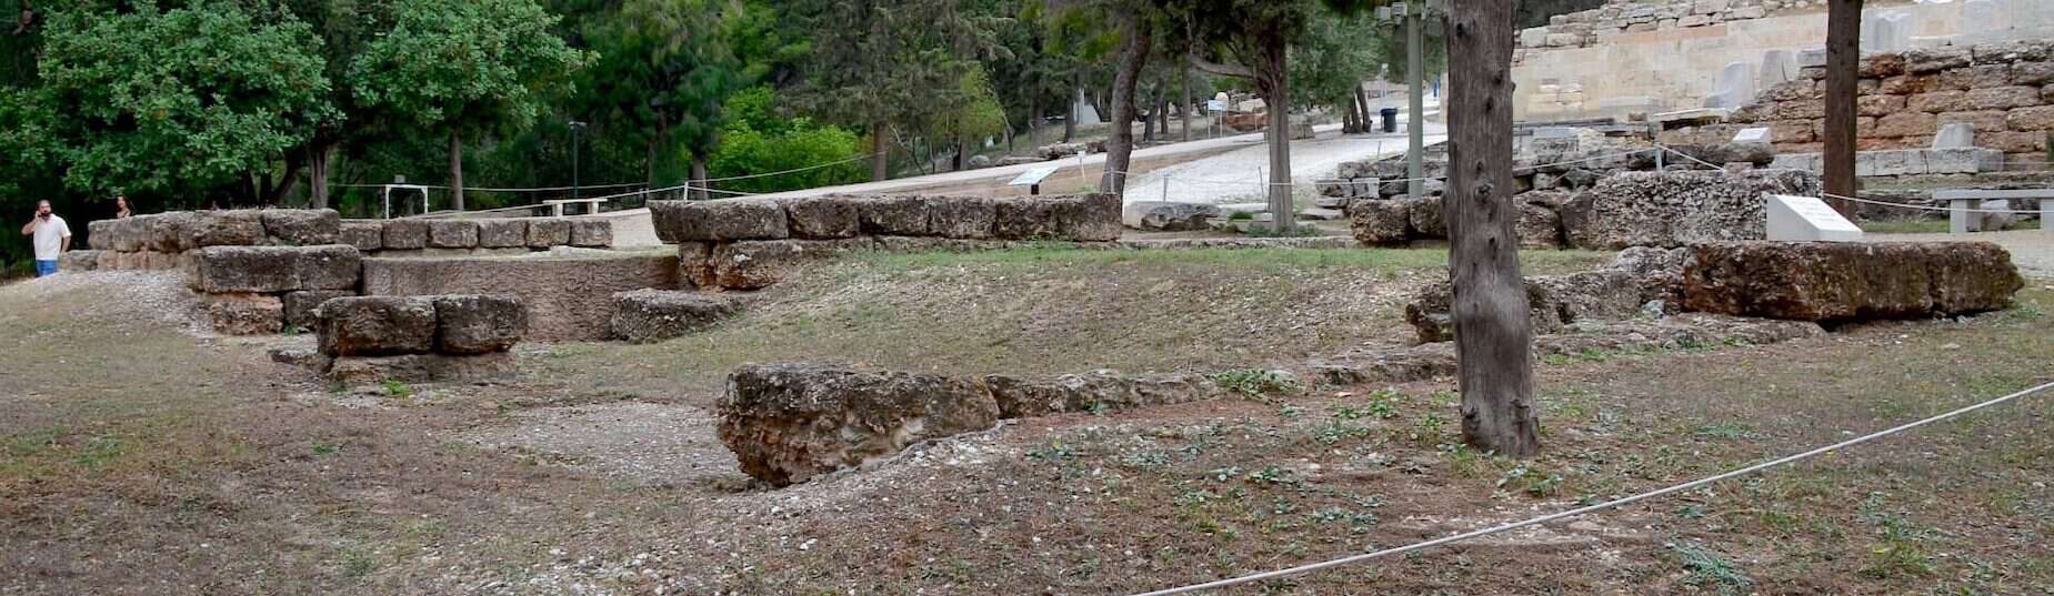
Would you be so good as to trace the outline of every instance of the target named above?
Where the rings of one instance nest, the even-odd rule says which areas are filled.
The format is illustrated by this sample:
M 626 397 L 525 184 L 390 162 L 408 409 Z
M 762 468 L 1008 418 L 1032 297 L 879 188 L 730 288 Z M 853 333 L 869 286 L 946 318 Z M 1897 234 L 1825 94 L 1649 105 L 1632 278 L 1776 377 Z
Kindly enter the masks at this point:
M 333 210 L 166 212 L 86 224 L 92 249 L 121 253 L 185 253 L 205 247 L 335 245 L 341 216 Z

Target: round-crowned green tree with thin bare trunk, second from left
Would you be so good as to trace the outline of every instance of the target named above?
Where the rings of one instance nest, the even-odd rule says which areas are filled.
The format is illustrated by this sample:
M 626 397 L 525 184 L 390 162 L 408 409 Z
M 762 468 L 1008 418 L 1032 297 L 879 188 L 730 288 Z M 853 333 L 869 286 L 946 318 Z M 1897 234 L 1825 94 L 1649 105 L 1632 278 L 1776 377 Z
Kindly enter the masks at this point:
M 442 132 L 450 199 L 464 210 L 464 140 L 534 123 L 589 55 L 532 0 L 411 0 L 349 68 L 366 107 Z

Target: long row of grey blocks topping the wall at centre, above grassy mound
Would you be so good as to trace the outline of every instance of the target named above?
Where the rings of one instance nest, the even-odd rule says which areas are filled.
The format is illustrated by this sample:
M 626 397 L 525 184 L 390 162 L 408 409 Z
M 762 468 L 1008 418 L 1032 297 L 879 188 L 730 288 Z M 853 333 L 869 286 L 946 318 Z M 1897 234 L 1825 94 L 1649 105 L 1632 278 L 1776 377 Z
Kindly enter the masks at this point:
M 1119 197 L 822 195 L 651 201 L 663 243 L 939 236 L 967 240 L 1117 240 Z

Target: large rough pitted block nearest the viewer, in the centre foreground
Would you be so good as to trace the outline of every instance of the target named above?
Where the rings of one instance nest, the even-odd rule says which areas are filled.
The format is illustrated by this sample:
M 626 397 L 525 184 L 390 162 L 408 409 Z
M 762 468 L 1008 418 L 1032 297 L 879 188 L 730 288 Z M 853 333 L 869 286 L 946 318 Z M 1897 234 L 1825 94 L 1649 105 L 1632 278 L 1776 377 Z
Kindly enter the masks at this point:
M 737 368 L 717 411 L 721 442 L 741 471 L 772 485 L 803 483 L 920 440 L 998 423 L 998 403 L 974 382 L 809 364 Z

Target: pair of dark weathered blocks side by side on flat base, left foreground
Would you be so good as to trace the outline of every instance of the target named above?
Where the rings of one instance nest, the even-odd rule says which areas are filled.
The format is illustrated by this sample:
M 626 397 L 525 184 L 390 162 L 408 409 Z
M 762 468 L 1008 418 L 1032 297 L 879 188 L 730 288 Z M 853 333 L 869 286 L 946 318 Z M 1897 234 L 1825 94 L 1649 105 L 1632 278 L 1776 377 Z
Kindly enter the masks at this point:
M 351 386 L 507 376 L 528 331 L 509 296 L 333 298 L 316 316 L 318 358 L 306 364 Z

